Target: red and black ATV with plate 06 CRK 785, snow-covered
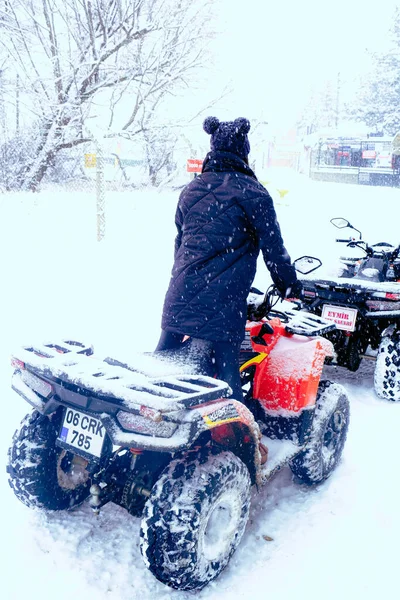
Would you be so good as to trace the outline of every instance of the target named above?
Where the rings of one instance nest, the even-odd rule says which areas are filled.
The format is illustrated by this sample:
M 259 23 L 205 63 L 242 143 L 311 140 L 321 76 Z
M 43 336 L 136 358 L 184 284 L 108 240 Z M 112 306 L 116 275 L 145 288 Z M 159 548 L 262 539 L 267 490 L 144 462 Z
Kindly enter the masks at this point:
M 332 345 L 319 334 L 334 325 L 286 304 L 247 324 L 245 404 L 193 366 L 195 340 L 173 360 L 139 355 L 130 364 L 75 341 L 22 348 L 12 387 L 33 411 L 9 450 L 15 495 L 47 510 L 86 499 L 96 513 L 123 506 L 142 519 L 141 553 L 154 576 L 201 589 L 239 545 L 252 485 L 285 465 L 297 481 L 320 483 L 342 454 L 348 398 L 320 381 Z

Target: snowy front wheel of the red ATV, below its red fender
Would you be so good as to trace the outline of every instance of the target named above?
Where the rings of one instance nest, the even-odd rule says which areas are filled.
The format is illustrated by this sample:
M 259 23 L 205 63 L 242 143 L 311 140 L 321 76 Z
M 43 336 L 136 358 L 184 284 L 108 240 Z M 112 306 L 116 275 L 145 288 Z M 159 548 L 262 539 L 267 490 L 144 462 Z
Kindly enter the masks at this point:
M 297 480 L 313 485 L 329 477 L 342 455 L 349 419 L 350 403 L 344 388 L 337 383 L 322 381 L 310 439 L 290 463 Z

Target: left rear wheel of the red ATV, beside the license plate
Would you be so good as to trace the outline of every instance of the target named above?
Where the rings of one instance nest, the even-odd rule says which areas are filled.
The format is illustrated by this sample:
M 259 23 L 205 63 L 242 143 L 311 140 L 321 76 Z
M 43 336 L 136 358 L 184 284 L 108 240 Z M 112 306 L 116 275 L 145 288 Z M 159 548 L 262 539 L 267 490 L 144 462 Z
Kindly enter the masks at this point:
M 69 510 L 89 496 L 87 461 L 56 446 L 61 414 L 27 415 L 8 451 L 10 486 L 30 508 Z

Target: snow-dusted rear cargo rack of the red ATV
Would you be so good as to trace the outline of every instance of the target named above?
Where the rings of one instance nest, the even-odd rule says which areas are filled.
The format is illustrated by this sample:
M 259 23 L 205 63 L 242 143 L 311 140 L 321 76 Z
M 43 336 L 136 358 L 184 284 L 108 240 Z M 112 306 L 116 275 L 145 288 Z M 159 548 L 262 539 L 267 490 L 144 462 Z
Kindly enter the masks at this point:
M 225 382 L 199 375 L 195 367 L 190 371 L 190 365 L 158 355 L 139 356 L 138 367 L 133 367 L 96 358 L 92 346 L 61 340 L 25 346 L 14 354 L 13 362 L 61 386 L 72 384 L 79 393 L 111 398 L 126 408 L 144 405 L 164 413 L 229 395 Z

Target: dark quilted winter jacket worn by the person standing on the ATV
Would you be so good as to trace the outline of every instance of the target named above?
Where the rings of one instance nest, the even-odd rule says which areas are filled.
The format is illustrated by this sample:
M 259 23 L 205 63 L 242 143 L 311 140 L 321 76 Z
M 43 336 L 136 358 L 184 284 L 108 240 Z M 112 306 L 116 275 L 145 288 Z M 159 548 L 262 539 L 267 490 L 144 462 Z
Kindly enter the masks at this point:
M 259 251 L 282 294 L 297 280 L 272 199 L 250 167 L 210 152 L 182 191 L 175 261 L 162 328 L 211 341 L 240 341 Z

